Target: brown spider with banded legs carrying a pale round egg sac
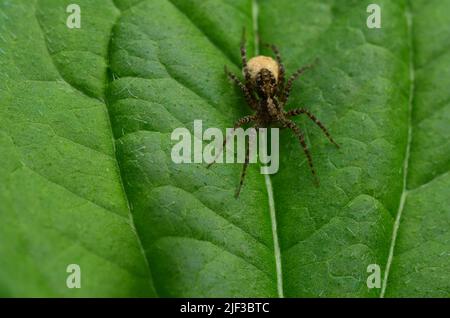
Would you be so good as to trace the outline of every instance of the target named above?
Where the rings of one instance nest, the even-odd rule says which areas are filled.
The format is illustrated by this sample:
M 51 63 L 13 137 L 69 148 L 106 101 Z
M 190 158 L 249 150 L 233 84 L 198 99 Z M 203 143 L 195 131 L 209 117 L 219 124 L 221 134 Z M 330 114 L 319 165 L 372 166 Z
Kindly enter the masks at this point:
M 267 44 L 265 46 L 273 51 L 276 60 L 269 56 L 259 55 L 251 58 L 247 62 L 245 34 L 242 36 L 240 49 L 244 82 L 242 82 L 235 74 L 228 71 L 225 66 L 225 74 L 241 89 L 247 104 L 255 112 L 253 115 L 244 116 L 236 121 L 233 130 L 250 123 L 253 123 L 253 127 L 256 130 L 275 124 L 281 126 L 281 128 L 288 128 L 292 130 L 303 148 L 303 152 L 308 160 L 308 165 L 314 181 L 316 186 L 318 186 L 319 179 L 314 169 L 311 153 L 305 142 L 305 136 L 300 128 L 290 118 L 302 114 L 308 116 L 309 119 L 319 126 L 331 143 L 333 143 L 337 148 L 339 148 L 339 145 L 333 140 L 327 128 L 309 110 L 305 108 L 295 108 L 287 111 L 284 110 L 284 106 L 289 99 L 289 94 L 294 81 L 298 79 L 299 76 L 306 70 L 310 69 L 313 64 L 299 68 L 286 81 L 285 68 L 281 60 L 280 51 L 275 45 Z M 225 138 L 223 142 L 222 149 L 225 148 L 226 142 L 227 138 Z M 214 162 L 210 163 L 208 168 L 213 163 Z M 245 162 L 242 168 L 239 185 L 235 193 L 236 198 L 239 197 L 241 192 L 248 164 L 249 147 L 246 147 Z

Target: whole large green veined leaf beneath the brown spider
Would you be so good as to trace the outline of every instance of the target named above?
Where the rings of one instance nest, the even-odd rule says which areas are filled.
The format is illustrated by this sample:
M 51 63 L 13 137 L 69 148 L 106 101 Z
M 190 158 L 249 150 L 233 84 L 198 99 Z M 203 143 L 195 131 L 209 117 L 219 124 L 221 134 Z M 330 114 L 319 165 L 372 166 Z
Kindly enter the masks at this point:
M 0 296 L 450 295 L 450 1 L 0 2 Z M 171 132 L 250 110 L 239 43 L 288 74 L 280 170 L 175 164 Z M 275 221 L 276 220 L 276 221 Z M 69 264 L 81 288 L 69 289 Z M 381 267 L 369 289 L 367 266 Z

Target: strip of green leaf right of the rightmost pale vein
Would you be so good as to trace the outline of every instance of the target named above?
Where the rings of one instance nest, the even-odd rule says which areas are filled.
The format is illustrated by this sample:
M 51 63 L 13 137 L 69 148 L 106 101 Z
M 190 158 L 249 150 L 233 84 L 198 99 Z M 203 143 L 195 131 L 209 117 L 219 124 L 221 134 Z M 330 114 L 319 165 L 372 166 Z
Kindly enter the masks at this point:
M 410 142 L 385 289 L 390 297 L 450 295 L 449 8 L 449 1 L 411 1 L 409 8 Z

